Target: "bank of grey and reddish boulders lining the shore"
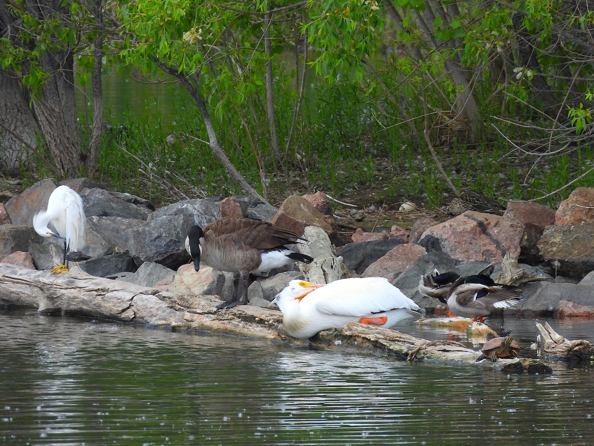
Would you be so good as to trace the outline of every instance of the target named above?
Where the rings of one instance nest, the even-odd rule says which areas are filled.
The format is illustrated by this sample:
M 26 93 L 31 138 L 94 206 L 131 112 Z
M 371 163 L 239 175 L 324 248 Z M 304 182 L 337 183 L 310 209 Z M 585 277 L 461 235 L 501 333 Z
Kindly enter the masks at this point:
M 96 277 L 187 296 L 226 296 L 230 274 L 195 272 L 189 264 L 187 229 L 221 216 L 249 217 L 299 234 L 310 225 L 322 228 L 342 257 L 345 277 L 386 277 L 428 314 L 441 308 L 418 293 L 421 275 L 434 268 L 474 274 L 495 262 L 497 278 L 510 253 L 527 274 L 546 280 L 523 285 L 522 301 L 506 314 L 594 318 L 594 188 L 574 190 L 558 209 L 511 201 L 504 215 L 467 211 L 443 222 L 421 215 L 410 228 L 394 226 L 385 233 L 358 228 L 344 240 L 332 203 L 320 192 L 290 196 L 278 209 L 245 197 L 184 200 L 154 209 L 146 199 L 105 190 L 87 178 L 63 183 L 81 194 L 87 216 L 87 245 L 71 262 Z M 52 179 L 39 181 L 0 203 L 1 263 L 45 270 L 61 262 L 61 242 L 41 240 L 31 226 L 56 186 Z M 249 289 L 251 304 L 269 306 L 298 277 L 302 272 L 292 267 L 258 278 Z

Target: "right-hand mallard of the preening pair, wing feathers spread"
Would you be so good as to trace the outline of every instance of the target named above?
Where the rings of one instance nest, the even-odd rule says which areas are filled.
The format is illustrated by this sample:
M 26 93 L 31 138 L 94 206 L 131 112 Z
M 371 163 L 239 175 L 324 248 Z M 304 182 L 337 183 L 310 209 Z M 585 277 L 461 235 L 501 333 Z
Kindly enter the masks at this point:
M 486 285 L 483 280 L 478 276 L 462 277 L 451 285 L 447 306 L 452 313 L 483 322 L 492 309 L 510 308 L 522 299 L 516 287 Z

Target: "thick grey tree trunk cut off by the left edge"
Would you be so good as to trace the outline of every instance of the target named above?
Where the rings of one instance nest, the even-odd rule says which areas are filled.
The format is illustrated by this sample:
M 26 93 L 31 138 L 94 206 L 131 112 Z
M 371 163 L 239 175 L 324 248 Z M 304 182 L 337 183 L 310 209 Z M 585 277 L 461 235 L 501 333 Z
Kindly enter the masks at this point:
M 37 123 L 17 77 L 0 70 L 0 171 L 16 175 L 37 147 Z

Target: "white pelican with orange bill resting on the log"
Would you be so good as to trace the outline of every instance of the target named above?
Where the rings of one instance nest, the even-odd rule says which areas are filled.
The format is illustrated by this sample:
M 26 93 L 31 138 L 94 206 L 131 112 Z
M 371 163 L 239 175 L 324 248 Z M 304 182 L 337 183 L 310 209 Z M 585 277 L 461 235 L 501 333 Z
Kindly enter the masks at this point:
M 273 303 L 283 313 L 286 331 L 301 339 L 349 322 L 390 328 L 421 316 L 419 306 L 383 277 L 347 278 L 327 285 L 292 280 Z

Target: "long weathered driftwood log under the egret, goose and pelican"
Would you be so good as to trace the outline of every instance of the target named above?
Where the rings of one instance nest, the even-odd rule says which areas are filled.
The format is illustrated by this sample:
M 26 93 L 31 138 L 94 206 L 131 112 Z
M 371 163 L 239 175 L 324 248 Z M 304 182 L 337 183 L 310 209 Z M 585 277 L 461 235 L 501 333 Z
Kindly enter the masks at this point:
M 129 323 L 202 330 L 311 345 L 324 350 L 379 354 L 409 361 L 500 370 L 505 373 L 552 373 L 535 359 L 476 362 L 478 351 L 451 341 L 427 341 L 394 330 L 350 323 L 308 341 L 290 337 L 282 313 L 254 306 L 216 311 L 213 296 L 183 296 L 128 282 L 93 277 L 80 269 L 61 274 L 0 263 L 0 304 L 36 308 L 40 312 L 93 316 Z

